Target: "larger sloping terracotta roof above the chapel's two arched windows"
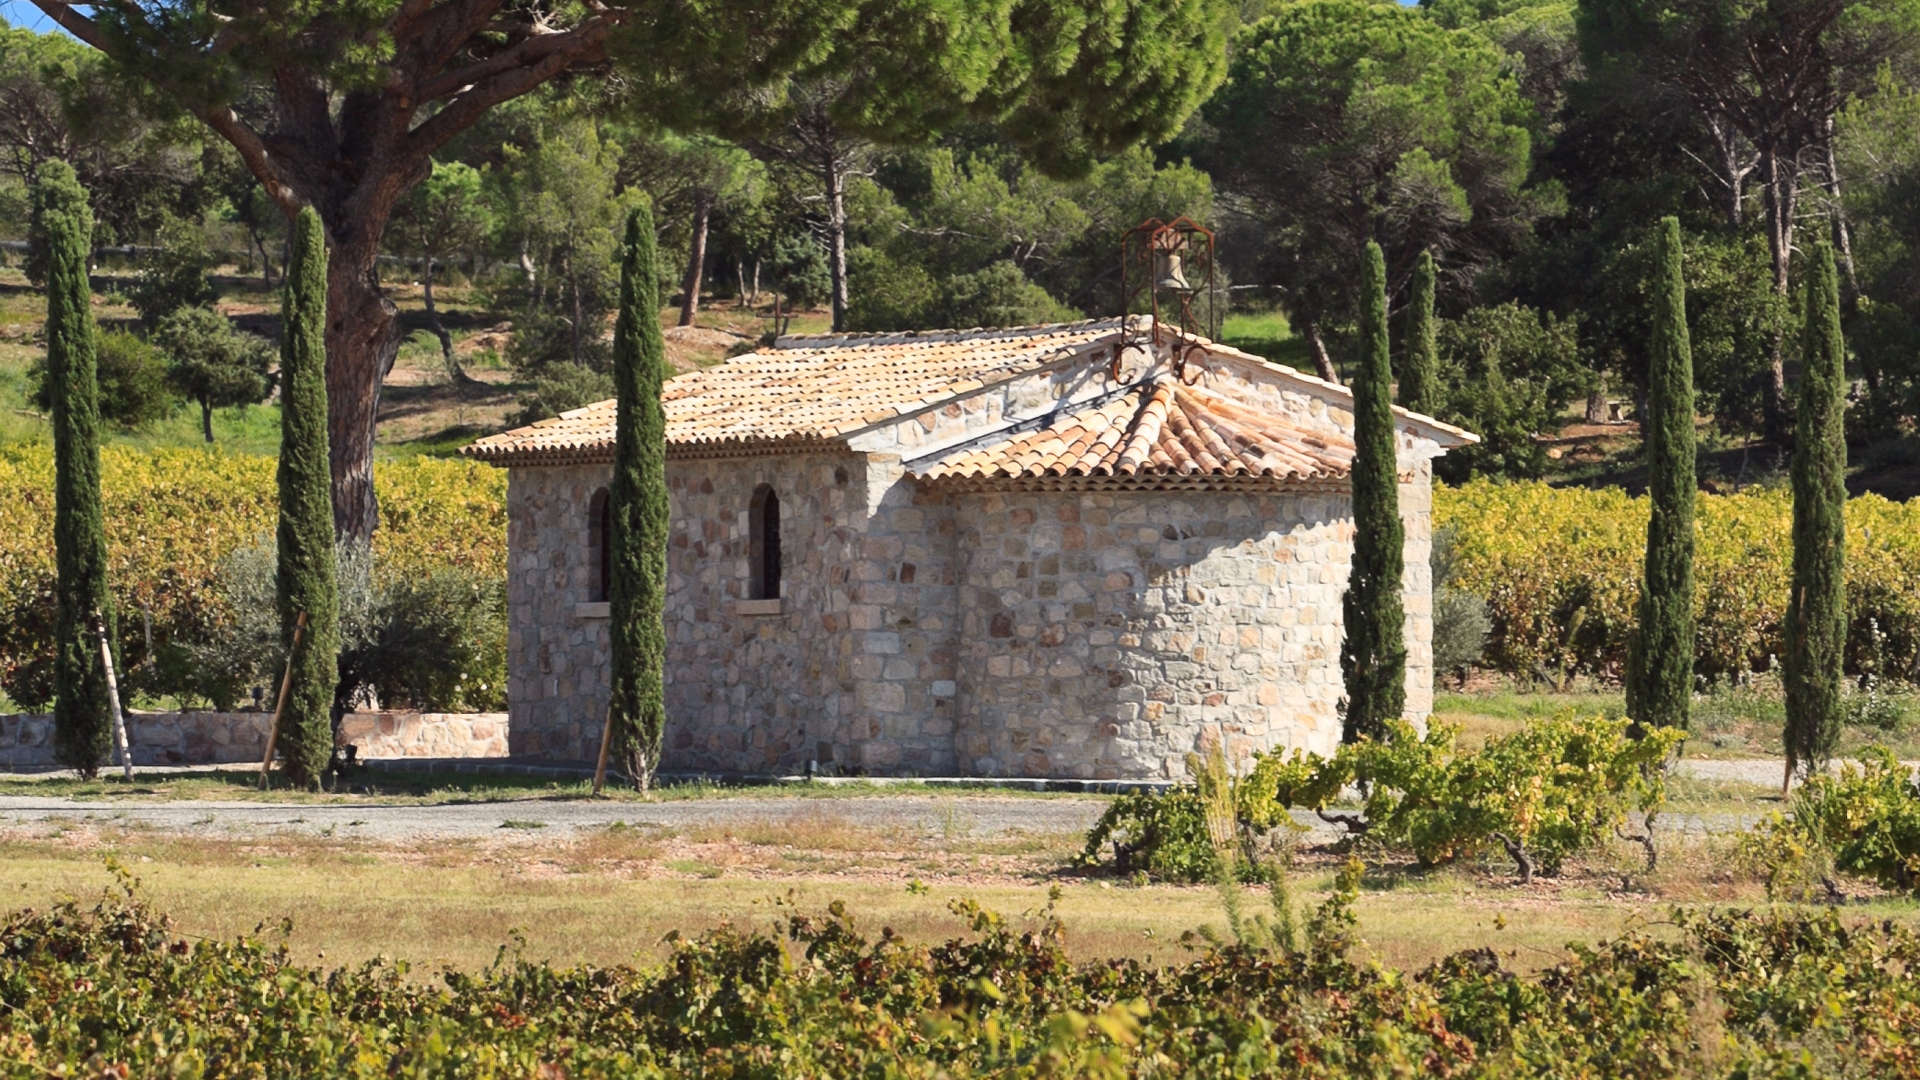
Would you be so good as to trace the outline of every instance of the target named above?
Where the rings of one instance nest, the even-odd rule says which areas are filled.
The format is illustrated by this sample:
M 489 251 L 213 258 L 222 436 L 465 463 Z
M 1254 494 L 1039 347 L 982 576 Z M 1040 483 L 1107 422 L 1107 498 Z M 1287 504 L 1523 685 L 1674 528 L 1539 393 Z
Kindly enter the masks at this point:
M 1117 319 L 1008 331 L 793 334 L 666 382 L 666 442 L 816 444 L 918 411 L 1106 338 Z M 482 438 L 463 454 L 497 463 L 612 454 L 612 402 Z

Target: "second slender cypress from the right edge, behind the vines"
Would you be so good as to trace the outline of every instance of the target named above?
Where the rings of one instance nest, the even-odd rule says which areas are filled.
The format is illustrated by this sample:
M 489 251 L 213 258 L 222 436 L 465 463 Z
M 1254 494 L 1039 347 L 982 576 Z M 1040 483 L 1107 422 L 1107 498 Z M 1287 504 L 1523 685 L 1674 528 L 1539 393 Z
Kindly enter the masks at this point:
M 1693 352 L 1686 331 L 1680 219 L 1661 219 L 1647 361 L 1647 565 L 1626 659 L 1626 715 L 1688 726 L 1693 703 Z

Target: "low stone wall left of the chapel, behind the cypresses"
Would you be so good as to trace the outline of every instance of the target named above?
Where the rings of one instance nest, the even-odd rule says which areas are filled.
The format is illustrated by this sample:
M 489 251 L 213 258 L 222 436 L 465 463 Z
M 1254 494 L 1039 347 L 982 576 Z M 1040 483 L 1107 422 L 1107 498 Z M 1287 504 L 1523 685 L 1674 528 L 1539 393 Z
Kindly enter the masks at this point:
M 252 765 L 269 713 L 127 713 L 134 765 Z M 349 713 L 340 742 L 367 757 L 505 757 L 507 713 Z M 0 715 L 0 773 L 50 769 L 54 717 Z

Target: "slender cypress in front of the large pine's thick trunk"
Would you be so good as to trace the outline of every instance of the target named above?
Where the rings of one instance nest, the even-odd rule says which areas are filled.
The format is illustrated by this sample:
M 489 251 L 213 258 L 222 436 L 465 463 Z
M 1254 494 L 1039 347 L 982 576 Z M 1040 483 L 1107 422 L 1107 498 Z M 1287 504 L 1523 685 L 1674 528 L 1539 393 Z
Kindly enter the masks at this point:
M 294 223 L 294 250 L 280 300 L 280 530 L 275 600 L 280 642 L 307 630 L 294 651 L 294 682 L 278 744 L 288 778 L 319 788 L 334 757 L 334 692 L 340 686 L 340 598 L 334 582 L 334 498 L 326 465 L 326 234 L 313 208 Z

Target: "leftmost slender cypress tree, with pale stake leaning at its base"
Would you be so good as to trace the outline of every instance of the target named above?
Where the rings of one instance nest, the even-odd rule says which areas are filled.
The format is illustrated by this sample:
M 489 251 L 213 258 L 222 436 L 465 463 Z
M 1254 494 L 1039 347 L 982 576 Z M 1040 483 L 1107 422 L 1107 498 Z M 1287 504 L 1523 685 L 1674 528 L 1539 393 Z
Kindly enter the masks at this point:
M 83 776 L 98 774 L 113 740 L 98 611 L 113 638 L 108 532 L 100 511 L 100 386 L 94 371 L 92 286 L 86 256 L 94 215 L 65 161 L 40 165 L 33 233 L 46 250 L 46 388 L 54 423 L 54 753 Z

